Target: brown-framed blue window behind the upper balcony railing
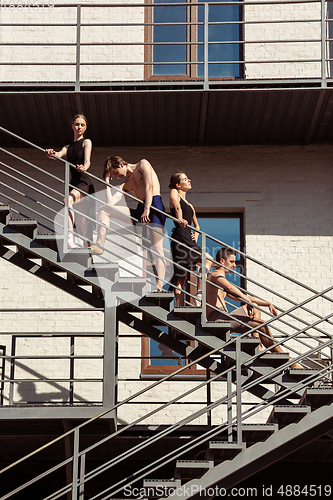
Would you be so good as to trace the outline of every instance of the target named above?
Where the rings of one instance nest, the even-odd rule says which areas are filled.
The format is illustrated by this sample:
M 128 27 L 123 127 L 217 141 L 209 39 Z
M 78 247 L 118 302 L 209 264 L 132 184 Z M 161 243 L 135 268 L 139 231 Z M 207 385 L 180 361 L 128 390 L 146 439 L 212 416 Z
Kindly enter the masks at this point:
M 165 2 L 154 0 L 154 4 L 159 3 Z M 171 5 L 146 8 L 148 26 L 145 38 L 153 45 L 146 46 L 145 60 L 152 65 L 146 65 L 145 78 L 203 78 L 203 23 L 204 4 L 207 2 L 192 5 L 191 0 L 171 0 L 168 3 Z M 208 76 L 240 77 L 241 64 L 238 61 L 242 50 L 237 42 L 241 40 L 242 6 L 212 3 L 214 0 L 208 7 L 208 22 L 211 23 L 208 26 Z

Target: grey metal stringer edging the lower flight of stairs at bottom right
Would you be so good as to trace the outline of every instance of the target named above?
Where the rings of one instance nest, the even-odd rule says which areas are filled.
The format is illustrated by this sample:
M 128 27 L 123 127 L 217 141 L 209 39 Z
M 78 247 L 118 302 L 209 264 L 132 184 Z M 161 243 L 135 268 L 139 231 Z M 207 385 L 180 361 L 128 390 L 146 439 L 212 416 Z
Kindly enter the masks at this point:
M 266 441 L 256 443 L 240 452 L 233 460 L 216 465 L 199 479 L 177 489 L 177 500 L 211 498 L 209 488 L 231 488 L 244 479 L 318 439 L 333 429 L 333 403 L 306 415 L 297 424 L 289 424 L 272 434 Z M 167 500 L 174 500 L 175 495 Z

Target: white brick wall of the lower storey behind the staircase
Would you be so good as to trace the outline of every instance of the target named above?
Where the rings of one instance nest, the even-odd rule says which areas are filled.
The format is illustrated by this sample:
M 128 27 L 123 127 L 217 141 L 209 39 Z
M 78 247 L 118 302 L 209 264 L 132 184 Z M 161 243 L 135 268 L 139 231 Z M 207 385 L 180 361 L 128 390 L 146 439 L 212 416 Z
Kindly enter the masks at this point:
M 179 170 L 184 170 L 192 179 L 193 189 L 188 198 L 197 209 L 212 211 L 244 212 L 246 251 L 268 266 L 290 275 L 292 278 L 306 283 L 315 290 L 322 291 L 331 286 L 333 281 L 333 266 L 331 264 L 332 248 L 332 169 L 331 145 L 311 146 L 218 146 L 218 147 L 146 147 L 146 148 L 117 148 L 112 151 L 127 161 L 136 162 L 140 158 L 147 158 L 155 167 L 162 187 L 165 204 L 168 204 L 168 183 L 170 176 Z M 34 160 L 40 166 L 60 176 L 62 167 L 57 162 L 51 162 L 38 153 L 30 150 L 21 150 L 19 154 L 29 161 Z M 110 151 L 102 148 L 93 150 L 91 172 L 101 176 L 102 165 Z M 20 168 L 23 168 L 22 166 Z M 25 172 L 31 170 L 25 167 Z M 252 201 L 250 201 L 252 200 Z M 257 200 L 257 201 L 256 201 Z M 10 307 L 82 307 L 80 301 L 67 296 L 64 292 L 40 281 L 12 264 L 0 260 L 1 280 L 0 301 L 2 308 Z M 311 295 L 311 291 L 304 291 L 300 286 L 292 284 L 271 271 L 264 270 L 248 261 L 247 276 L 271 287 L 274 291 L 288 295 L 291 300 L 300 301 Z M 288 303 L 269 292 L 258 291 L 257 287 L 248 283 L 251 293 L 260 293 L 261 296 L 272 300 L 277 306 L 286 308 Z M 333 297 L 332 293 L 329 294 Z M 314 304 L 318 314 L 329 314 L 331 305 L 323 299 Z M 311 308 L 312 305 L 309 305 Z M 299 312 L 296 312 L 297 316 Z M 314 321 L 315 317 L 307 312 L 301 314 L 301 319 Z M 292 324 L 301 325 L 295 319 Z M 282 325 L 283 331 L 291 334 L 291 326 Z M 9 314 L 0 316 L 2 332 L 90 332 L 103 330 L 102 314 L 98 312 L 86 313 L 35 313 Z M 321 325 L 326 331 L 331 327 Z M 134 333 L 122 325 L 121 333 Z M 311 333 L 314 333 L 312 330 Z M 10 348 L 10 336 L 2 335 L 0 344 Z M 18 354 L 27 355 L 36 351 L 36 341 L 30 338 L 18 341 Z M 42 352 L 52 352 L 56 349 L 68 352 L 69 340 L 43 339 L 37 346 Z M 101 339 L 82 338 L 77 341 L 77 352 L 101 353 Z M 299 344 L 290 342 L 290 348 L 300 349 Z M 38 350 L 38 349 L 37 349 Z M 141 352 L 140 339 L 121 338 L 119 354 L 127 356 L 139 355 Z M 68 373 L 68 365 L 60 370 L 62 364 L 45 362 L 22 361 L 22 378 L 29 378 L 30 371 L 38 374 L 59 376 L 59 371 Z M 28 367 L 25 368 L 25 367 Z M 79 362 L 78 376 L 101 376 L 101 362 Z M 21 372 L 17 373 L 21 376 Z M 7 371 L 7 375 L 9 371 Z M 123 399 L 136 390 L 148 385 L 147 381 L 139 381 L 140 360 L 121 361 L 119 378 L 138 379 L 137 382 L 119 382 L 119 398 Z M 142 399 L 148 403 L 140 405 L 126 405 L 119 410 L 119 417 L 126 422 L 132 422 L 140 415 L 144 415 L 155 407 L 154 401 L 168 401 L 175 397 L 181 389 L 191 387 L 194 383 L 175 382 L 168 384 L 163 390 L 156 389 Z M 39 394 L 53 394 L 64 397 L 68 384 L 36 384 L 31 391 Z M 15 389 L 15 401 L 20 401 L 20 395 Z M 98 399 L 101 397 L 101 387 L 98 384 L 86 386 L 75 385 L 77 399 Z M 213 386 L 213 398 L 224 394 L 223 383 Z M 59 393 L 58 396 L 57 394 Z M 36 396 L 34 396 L 36 397 Z M 198 398 L 198 399 L 196 399 Z M 193 401 L 205 399 L 204 391 L 194 393 Z M 246 396 L 246 400 L 253 400 Z M 149 402 L 151 401 L 151 402 Z M 196 405 L 178 405 L 175 410 L 168 408 L 162 415 L 150 419 L 150 422 L 174 422 L 180 415 L 191 414 Z M 268 411 L 268 410 L 267 410 Z M 225 418 L 224 410 L 219 408 L 213 412 L 213 423 Z M 199 421 L 198 421 L 199 422 Z M 194 423 L 198 423 L 194 422 Z M 205 417 L 201 417 L 205 423 Z

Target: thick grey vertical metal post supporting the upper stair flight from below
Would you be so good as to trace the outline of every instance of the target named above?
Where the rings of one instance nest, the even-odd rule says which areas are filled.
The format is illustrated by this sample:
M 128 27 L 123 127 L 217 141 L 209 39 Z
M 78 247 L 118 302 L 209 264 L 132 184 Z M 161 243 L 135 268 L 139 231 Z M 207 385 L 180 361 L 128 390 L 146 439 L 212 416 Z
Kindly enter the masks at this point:
M 103 406 L 114 406 L 117 397 L 117 299 L 114 293 L 105 292 L 104 311 L 104 363 Z

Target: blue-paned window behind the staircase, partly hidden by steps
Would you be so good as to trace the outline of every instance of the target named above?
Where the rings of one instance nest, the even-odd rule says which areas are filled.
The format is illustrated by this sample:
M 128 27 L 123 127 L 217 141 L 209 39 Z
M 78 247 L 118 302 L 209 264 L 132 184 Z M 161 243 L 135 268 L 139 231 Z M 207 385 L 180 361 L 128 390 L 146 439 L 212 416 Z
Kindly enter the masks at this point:
M 244 250 L 244 233 L 243 233 L 243 214 L 241 213 L 200 213 L 197 212 L 197 218 L 200 225 L 200 229 L 213 236 L 214 238 L 223 241 L 226 245 L 230 245 L 240 251 Z M 171 230 L 173 228 L 173 222 L 167 219 L 166 223 L 166 233 L 171 235 Z M 201 238 L 198 240 L 198 244 L 201 246 Z M 212 240 L 207 240 L 207 251 L 215 258 L 217 250 L 220 248 L 216 242 Z M 242 258 L 237 261 L 238 267 L 237 272 L 244 272 L 244 262 Z M 228 279 L 239 286 L 244 286 L 244 283 L 240 277 L 234 274 L 228 275 Z M 165 287 L 166 288 L 166 287 Z M 228 299 L 230 300 L 230 299 Z M 231 302 L 231 301 L 230 301 Z M 239 305 L 235 302 L 235 305 Z M 229 306 L 229 310 L 232 308 Z M 158 327 L 162 331 L 167 331 L 167 327 Z M 194 343 L 189 342 L 190 345 Z M 188 363 L 187 360 L 181 359 L 177 353 L 174 353 L 170 349 L 166 348 L 162 344 L 158 344 L 156 341 L 149 339 L 148 337 L 142 337 L 142 364 L 141 372 L 143 374 L 167 374 L 178 370 L 180 366 L 184 366 Z M 146 358 L 146 359 L 144 359 Z M 199 369 L 195 365 L 185 370 L 183 372 L 185 375 L 203 375 L 205 370 Z

